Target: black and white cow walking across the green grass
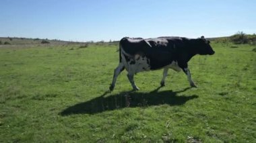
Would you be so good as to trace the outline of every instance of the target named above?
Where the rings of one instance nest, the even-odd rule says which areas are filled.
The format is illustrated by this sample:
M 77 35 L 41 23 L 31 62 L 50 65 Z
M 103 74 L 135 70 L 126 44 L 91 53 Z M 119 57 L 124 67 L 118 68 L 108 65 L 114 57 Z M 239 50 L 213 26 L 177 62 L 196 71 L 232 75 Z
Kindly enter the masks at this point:
M 203 36 L 197 39 L 181 37 L 160 38 L 122 38 L 119 42 L 119 66 L 115 68 L 110 91 L 115 88 L 118 75 L 126 69 L 127 77 L 133 90 L 139 90 L 133 81 L 133 76 L 141 71 L 164 68 L 161 86 L 164 86 L 168 69 L 172 68 L 187 75 L 191 87 L 196 87 L 191 79 L 187 62 L 196 54 L 214 54 L 210 41 Z

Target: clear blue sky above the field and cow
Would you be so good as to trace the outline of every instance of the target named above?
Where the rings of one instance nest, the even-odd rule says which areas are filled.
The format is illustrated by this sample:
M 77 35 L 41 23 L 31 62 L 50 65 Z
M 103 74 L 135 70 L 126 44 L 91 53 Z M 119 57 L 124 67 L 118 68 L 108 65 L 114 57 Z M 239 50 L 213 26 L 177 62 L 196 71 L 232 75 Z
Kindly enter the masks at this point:
M 256 33 L 256 0 L 1 0 L 0 37 L 71 41 Z

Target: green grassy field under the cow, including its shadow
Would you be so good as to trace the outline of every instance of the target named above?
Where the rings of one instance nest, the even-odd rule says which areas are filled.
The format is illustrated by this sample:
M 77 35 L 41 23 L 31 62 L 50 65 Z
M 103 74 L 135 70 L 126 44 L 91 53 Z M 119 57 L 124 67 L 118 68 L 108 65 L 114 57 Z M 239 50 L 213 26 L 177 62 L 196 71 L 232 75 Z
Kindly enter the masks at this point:
M 184 73 L 121 73 L 117 46 L 0 47 L 0 142 L 256 142 L 255 46 L 212 44 Z

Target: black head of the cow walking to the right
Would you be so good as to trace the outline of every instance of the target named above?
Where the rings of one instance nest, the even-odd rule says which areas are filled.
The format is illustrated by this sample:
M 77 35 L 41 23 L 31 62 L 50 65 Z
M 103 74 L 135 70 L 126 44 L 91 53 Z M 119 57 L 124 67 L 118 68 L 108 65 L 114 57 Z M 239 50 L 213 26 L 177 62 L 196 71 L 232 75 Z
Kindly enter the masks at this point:
M 212 46 L 210 46 L 210 41 L 205 39 L 204 36 L 201 36 L 201 38 L 197 39 L 197 52 L 201 55 L 206 54 L 214 54 L 214 50 L 212 49 Z

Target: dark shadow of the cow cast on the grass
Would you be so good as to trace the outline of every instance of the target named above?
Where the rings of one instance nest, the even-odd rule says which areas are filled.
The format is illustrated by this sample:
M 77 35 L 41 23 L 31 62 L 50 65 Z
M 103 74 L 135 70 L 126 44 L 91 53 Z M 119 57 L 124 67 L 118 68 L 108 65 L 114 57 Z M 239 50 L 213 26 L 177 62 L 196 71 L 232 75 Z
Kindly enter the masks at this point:
M 90 101 L 85 101 L 83 103 L 77 103 L 71 107 L 67 107 L 60 114 L 61 115 L 71 115 L 71 114 L 94 114 L 101 113 L 103 111 L 112 111 L 115 109 L 123 109 L 125 107 L 148 107 L 151 105 L 183 105 L 191 99 L 195 99 L 197 95 L 177 95 L 186 91 L 186 88 L 181 91 L 159 91 L 155 89 L 150 93 L 139 93 L 134 91 L 122 92 L 116 95 L 108 95 L 108 91 L 91 99 Z

